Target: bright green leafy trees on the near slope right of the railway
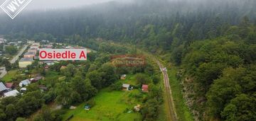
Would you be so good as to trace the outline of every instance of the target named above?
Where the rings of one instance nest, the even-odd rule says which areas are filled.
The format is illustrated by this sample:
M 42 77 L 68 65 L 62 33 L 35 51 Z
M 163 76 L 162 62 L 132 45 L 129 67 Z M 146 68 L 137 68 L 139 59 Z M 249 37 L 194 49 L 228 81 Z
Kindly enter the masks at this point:
M 189 104 L 199 117 L 255 120 L 255 25 L 243 21 L 227 35 L 176 51 Z M 242 98 L 243 97 L 243 98 Z

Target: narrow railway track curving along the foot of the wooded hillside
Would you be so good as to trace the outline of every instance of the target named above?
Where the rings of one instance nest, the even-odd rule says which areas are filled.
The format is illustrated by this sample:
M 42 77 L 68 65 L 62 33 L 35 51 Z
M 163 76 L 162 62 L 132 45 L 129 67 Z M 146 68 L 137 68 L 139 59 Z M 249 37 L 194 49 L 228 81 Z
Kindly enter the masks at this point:
M 155 59 L 156 63 L 159 65 L 159 68 L 164 76 L 164 91 L 166 93 L 166 101 L 167 101 L 167 105 L 168 105 L 168 114 L 169 115 L 167 118 L 167 120 L 171 120 L 171 121 L 177 121 L 177 114 L 176 114 L 176 110 L 175 110 L 175 106 L 174 106 L 174 99 L 172 97 L 171 94 L 171 86 L 169 83 L 169 76 L 167 74 L 167 69 L 163 66 L 163 64 L 161 64 L 161 62 L 159 62 L 159 60 Z

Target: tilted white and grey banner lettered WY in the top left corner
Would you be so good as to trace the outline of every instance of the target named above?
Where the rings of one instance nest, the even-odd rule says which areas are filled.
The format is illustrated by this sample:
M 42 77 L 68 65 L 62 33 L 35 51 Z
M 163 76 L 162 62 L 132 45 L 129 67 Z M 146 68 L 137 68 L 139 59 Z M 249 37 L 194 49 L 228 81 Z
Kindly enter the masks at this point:
M 1 8 L 14 19 L 32 0 L 6 0 Z

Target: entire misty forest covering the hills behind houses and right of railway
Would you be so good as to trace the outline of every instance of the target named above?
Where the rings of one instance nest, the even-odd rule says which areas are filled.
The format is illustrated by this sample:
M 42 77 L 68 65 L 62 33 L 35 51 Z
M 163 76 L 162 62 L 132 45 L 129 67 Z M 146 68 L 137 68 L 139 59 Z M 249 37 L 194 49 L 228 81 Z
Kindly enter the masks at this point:
M 256 120 L 255 6 L 255 0 L 110 2 L 1 19 L 0 33 L 95 50 L 102 39 L 137 45 L 181 69 L 177 77 L 196 120 Z

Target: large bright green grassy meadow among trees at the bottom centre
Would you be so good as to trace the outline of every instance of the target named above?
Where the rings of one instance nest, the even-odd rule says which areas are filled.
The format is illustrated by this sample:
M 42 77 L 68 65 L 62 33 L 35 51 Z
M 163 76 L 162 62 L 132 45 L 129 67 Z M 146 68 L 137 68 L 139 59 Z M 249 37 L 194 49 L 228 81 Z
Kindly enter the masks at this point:
M 75 110 L 68 110 L 63 116 L 66 120 L 70 115 L 74 115 L 71 121 L 90 121 L 90 120 L 124 120 L 133 121 L 141 120 L 139 113 L 128 113 L 132 110 L 134 105 L 139 104 L 135 98 L 130 96 L 130 93 L 139 93 L 138 90 L 134 92 L 127 91 L 108 91 L 107 88 L 102 89 L 93 100 L 95 106 L 90 110 L 84 110 L 85 103 L 79 105 Z

